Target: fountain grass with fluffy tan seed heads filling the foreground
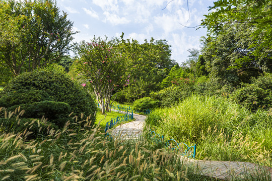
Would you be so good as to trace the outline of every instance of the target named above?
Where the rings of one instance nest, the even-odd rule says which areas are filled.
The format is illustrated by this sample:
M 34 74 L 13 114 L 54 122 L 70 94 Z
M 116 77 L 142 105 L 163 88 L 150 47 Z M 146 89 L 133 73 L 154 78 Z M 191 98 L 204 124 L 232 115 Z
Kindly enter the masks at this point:
M 15 113 L 5 113 L 6 119 Z M 21 125 L 20 115 L 13 126 Z M 112 140 L 83 114 L 62 129 L 44 127 L 47 135 L 31 135 L 44 120 L 0 134 L 2 180 L 199 180 L 203 178 L 172 152 L 157 149 L 147 139 Z M 93 126 L 92 126 L 93 125 Z M 12 126 L 11 126 L 12 127 Z M 38 129 L 40 131 L 40 129 Z M 202 180 L 213 180 L 203 178 Z

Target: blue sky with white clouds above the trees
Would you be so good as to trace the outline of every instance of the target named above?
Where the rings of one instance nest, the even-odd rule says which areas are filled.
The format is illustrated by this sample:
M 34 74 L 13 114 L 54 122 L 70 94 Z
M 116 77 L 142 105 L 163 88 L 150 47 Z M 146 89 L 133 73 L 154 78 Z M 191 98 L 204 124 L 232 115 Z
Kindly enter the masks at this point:
M 94 37 L 133 38 L 143 43 L 151 37 L 166 39 L 172 58 L 179 64 L 186 61 L 189 48 L 199 48 L 199 39 L 206 29 L 189 29 L 200 25 L 208 14 L 211 0 L 57 0 L 57 6 L 80 31 L 75 40 L 89 41 Z M 182 25 L 180 25 L 182 24 Z

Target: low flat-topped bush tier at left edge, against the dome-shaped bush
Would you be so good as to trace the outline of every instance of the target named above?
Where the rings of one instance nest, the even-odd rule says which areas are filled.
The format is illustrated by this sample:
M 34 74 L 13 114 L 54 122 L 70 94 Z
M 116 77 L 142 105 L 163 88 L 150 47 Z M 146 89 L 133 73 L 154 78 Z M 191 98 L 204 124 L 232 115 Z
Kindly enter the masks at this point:
M 0 107 L 10 108 L 20 104 L 31 104 L 40 101 L 51 101 L 45 91 L 22 90 L 8 92 L 0 98 Z

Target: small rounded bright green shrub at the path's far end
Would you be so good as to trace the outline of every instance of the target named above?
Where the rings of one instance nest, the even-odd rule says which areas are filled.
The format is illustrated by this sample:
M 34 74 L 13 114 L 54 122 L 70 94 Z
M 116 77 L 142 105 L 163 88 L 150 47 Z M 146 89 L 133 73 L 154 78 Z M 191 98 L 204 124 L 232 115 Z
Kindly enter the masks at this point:
M 158 102 L 151 99 L 150 97 L 145 97 L 134 101 L 132 109 L 143 112 L 147 109 L 152 110 L 158 106 Z

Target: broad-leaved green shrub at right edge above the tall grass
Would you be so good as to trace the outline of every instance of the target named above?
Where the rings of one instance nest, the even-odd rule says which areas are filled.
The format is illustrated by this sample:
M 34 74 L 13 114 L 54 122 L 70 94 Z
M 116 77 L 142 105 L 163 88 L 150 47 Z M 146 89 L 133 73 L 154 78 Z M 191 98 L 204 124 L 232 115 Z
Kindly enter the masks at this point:
M 272 107 L 272 74 L 253 78 L 252 83 L 242 83 L 233 94 L 232 99 L 252 111 L 259 108 L 268 110 Z

